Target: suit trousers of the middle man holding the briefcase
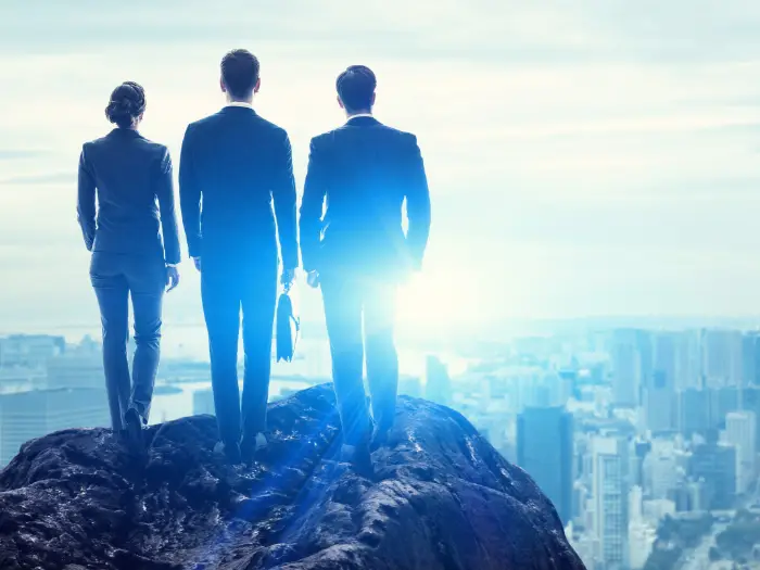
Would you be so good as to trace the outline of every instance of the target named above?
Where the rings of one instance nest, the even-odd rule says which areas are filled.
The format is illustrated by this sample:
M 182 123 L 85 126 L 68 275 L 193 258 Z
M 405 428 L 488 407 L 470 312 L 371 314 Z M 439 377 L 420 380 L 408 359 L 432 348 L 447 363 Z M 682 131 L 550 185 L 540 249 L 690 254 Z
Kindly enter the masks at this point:
M 208 330 L 211 380 L 219 439 L 228 444 L 266 431 L 277 255 L 256 263 L 215 262 L 204 254 L 201 296 Z M 242 406 L 238 343 L 243 329 Z

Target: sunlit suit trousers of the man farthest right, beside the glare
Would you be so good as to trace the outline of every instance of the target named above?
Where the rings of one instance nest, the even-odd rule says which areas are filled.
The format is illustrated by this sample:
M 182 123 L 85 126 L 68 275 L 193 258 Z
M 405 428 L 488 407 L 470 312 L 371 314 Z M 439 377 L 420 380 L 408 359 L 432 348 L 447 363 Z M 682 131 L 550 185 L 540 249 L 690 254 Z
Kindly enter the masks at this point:
M 378 431 L 393 425 L 398 390 L 393 340 L 397 286 L 343 271 L 327 273 L 320 281 L 343 441 L 356 445 L 370 435 L 370 407 Z M 363 380 L 365 359 L 369 406 Z

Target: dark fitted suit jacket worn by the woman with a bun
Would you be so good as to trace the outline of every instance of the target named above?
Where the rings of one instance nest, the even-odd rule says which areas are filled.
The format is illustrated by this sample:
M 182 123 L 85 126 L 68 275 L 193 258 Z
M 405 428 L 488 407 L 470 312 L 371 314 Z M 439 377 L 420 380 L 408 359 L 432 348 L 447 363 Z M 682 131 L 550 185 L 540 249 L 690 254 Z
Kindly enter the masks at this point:
M 163 255 L 166 263 L 179 263 L 166 147 L 116 128 L 83 147 L 78 186 L 77 215 L 89 251 Z

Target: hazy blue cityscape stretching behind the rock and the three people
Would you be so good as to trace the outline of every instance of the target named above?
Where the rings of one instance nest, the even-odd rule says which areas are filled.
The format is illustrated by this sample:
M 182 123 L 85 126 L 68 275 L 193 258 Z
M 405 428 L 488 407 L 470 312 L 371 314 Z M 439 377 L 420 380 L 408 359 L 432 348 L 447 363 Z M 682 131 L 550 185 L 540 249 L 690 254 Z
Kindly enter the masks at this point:
M 304 339 L 270 397 L 328 381 L 327 351 Z M 460 411 L 530 473 L 587 568 L 760 568 L 760 332 L 597 329 L 418 352 L 409 373 L 402 347 L 400 392 Z M 105 402 L 96 340 L 0 338 L 0 466 L 30 439 L 107 426 Z M 207 364 L 166 358 L 151 422 L 191 414 L 213 414 Z

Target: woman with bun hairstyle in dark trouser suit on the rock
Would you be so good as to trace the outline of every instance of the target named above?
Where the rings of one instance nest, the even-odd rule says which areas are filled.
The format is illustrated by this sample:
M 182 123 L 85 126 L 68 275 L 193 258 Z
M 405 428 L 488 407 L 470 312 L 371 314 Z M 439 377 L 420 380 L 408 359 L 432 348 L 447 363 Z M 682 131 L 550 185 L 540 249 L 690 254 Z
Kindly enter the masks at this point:
M 145 92 L 138 84 L 127 81 L 113 91 L 105 116 L 116 128 L 84 144 L 77 201 L 85 244 L 92 252 L 90 279 L 103 326 L 111 422 L 114 431 L 126 429 L 135 446 L 142 445 L 159 368 L 164 289 L 179 283 L 180 261 L 172 157 L 166 147 L 138 132 L 144 112 Z M 130 296 L 137 345 L 131 382 Z

